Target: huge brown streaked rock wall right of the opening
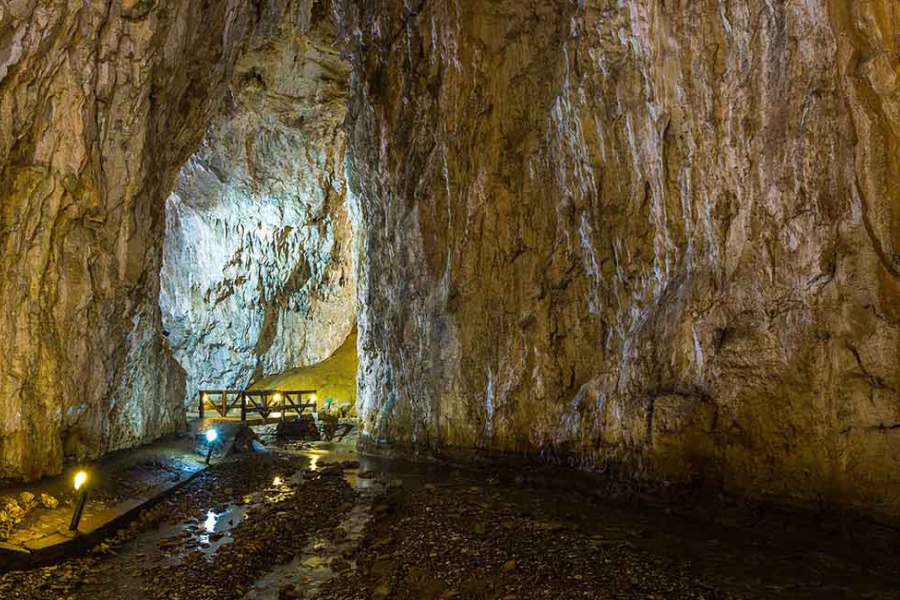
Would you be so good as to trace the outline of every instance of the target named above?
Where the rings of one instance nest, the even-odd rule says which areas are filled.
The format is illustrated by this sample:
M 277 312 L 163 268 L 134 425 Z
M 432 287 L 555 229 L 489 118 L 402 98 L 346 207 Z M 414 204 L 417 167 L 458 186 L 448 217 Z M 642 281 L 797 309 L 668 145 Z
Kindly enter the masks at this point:
M 345 11 L 369 447 L 900 513 L 896 6 Z

